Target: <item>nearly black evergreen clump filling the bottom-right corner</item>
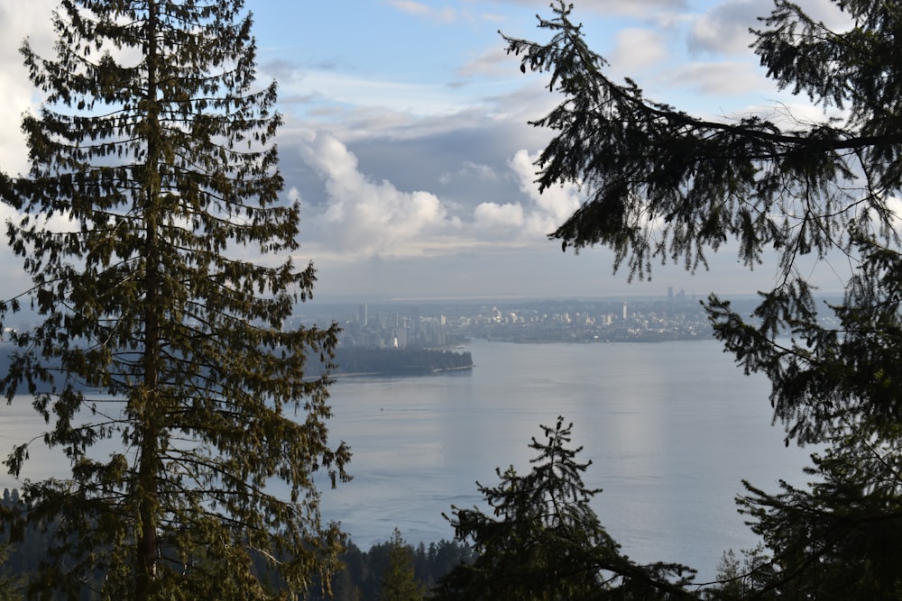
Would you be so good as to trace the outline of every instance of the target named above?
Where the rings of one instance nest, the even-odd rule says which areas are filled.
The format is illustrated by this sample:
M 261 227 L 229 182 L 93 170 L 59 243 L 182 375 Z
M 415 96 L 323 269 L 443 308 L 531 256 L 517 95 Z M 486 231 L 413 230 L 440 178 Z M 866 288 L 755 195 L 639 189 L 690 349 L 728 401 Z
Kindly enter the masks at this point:
M 898 439 L 850 436 L 814 456 L 813 483 L 770 495 L 746 483 L 739 499 L 770 560 L 753 570 L 760 593 L 788 598 L 902 596 L 902 453 Z

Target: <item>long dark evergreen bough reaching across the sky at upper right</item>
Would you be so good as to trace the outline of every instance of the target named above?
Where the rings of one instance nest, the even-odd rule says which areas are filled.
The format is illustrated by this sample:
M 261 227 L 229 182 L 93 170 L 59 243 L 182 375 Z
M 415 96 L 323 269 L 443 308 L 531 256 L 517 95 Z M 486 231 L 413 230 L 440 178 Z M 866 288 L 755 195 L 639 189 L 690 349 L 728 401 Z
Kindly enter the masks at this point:
M 845 3 L 847 11 L 865 14 L 878 10 L 868 6 L 884 4 Z M 804 21 L 799 11 L 778 2 L 768 22 L 773 35 Z M 539 27 L 553 33 L 547 44 L 506 40 L 509 52 L 522 55 L 524 69 L 549 71 L 549 89 L 566 96 L 534 122 L 557 132 L 538 159 L 540 187 L 575 182 L 588 194 L 551 234 L 565 247 L 610 246 L 617 265 L 627 261 L 631 276 L 645 277 L 652 259 L 696 269 L 705 264 L 706 249 L 733 240 L 750 266 L 764 250 L 777 249 L 789 277 L 796 254 L 848 248 L 853 232 L 846 225 L 891 237 L 887 193 L 898 188 L 902 130 L 886 96 L 859 96 L 854 80 L 837 71 L 826 81 L 849 88 L 846 99 L 856 104 L 856 117 L 845 127 L 825 121 L 786 128 L 755 115 L 733 122 L 695 118 L 649 101 L 630 80 L 620 85 L 605 77 L 604 59 L 585 45 L 570 9 L 560 3 L 555 13 L 539 20 Z M 820 35 L 824 32 L 812 27 L 807 38 L 783 41 L 827 39 L 837 52 L 852 43 L 845 34 Z M 868 51 L 884 50 L 872 60 L 892 56 L 885 51 L 891 31 L 871 32 L 878 48 Z M 771 56 L 769 38 L 759 40 L 762 61 L 777 63 L 772 72 L 812 77 Z M 856 178 L 861 172 L 866 179 Z

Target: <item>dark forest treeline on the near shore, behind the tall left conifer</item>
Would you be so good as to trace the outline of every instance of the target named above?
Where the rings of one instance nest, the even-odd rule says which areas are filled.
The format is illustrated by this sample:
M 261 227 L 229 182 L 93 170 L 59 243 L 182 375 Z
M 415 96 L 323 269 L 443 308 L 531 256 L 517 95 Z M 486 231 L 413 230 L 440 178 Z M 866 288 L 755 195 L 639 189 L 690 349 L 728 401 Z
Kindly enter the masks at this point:
M 53 536 L 53 525 L 49 524 L 44 531 L 17 527 L 10 518 L 16 510 L 22 511 L 23 508 L 18 491 L 6 489 L 3 500 L 0 501 L 0 524 L 3 526 L 0 528 L 0 581 L 14 578 L 24 584 L 41 561 L 49 559 L 47 550 Z M 416 547 L 404 543 L 404 546 L 406 554 L 412 560 L 414 579 L 427 591 L 435 586 L 438 578 L 445 576 L 456 565 L 470 563 L 474 559 L 470 547 L 458 542 L 443 540 L 430 542 L 428 545 L 420 542 Z M 316 585 L 305 598 L 310 601 L 378 601 L 382 591 L 382 578 L 390 569 L 391 551 L 391 541 L 376 543 L 369 551 L 363 551 L 354 542 L 348 542 L 347 550 L 341 556 L 345 566 L 332 578 L 333 596 L 325 596 L 322 587 Z M 266 570 L 262 557 L 256 558 L 254 564 L 260 572 Z M 93 601 L 97 598 L 90 585 L 92 581 L 97 584 L 102 578 L 103 574 L 100 572 L 86 574 L 86 586 L 79 591 L 78 599 Z M 275 578 L 270 578 L 270 582 L 273 587 L 279 588 Z M 6 597 L 0 593 L 0 598 Z

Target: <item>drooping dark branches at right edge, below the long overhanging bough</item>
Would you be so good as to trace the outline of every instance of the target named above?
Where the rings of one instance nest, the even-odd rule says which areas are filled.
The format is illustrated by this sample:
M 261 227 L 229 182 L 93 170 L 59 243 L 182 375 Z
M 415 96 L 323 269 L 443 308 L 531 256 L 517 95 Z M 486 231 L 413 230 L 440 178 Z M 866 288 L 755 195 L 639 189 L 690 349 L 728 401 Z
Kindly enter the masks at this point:
M 842 303 L 829 307 L 829 324 L 801 280 L 762 295 L 751 323 L 729 302 L 708 301 L 715 335 L 747 371 L 768 375 L 775 415 L 799 442 L 830 441 L 850 427 L 895 436 L 902 423 L 902 260 L 872 241 L 856 248 L 861 263 Z

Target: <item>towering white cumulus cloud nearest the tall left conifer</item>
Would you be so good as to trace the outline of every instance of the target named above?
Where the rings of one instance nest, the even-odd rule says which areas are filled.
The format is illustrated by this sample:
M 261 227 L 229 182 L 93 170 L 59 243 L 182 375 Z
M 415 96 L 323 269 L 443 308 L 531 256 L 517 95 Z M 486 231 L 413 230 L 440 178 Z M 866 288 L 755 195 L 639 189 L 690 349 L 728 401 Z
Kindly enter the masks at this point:
M 367 178 L 354 153 L 329 132 L 309 134 L 301 155 L 326 185 L 327 205 L 318 217 L 318 234 L 330 250 L 423 255 L 431 237 L 460 227 L 434 194 L 404 192 L 388 180 Z

